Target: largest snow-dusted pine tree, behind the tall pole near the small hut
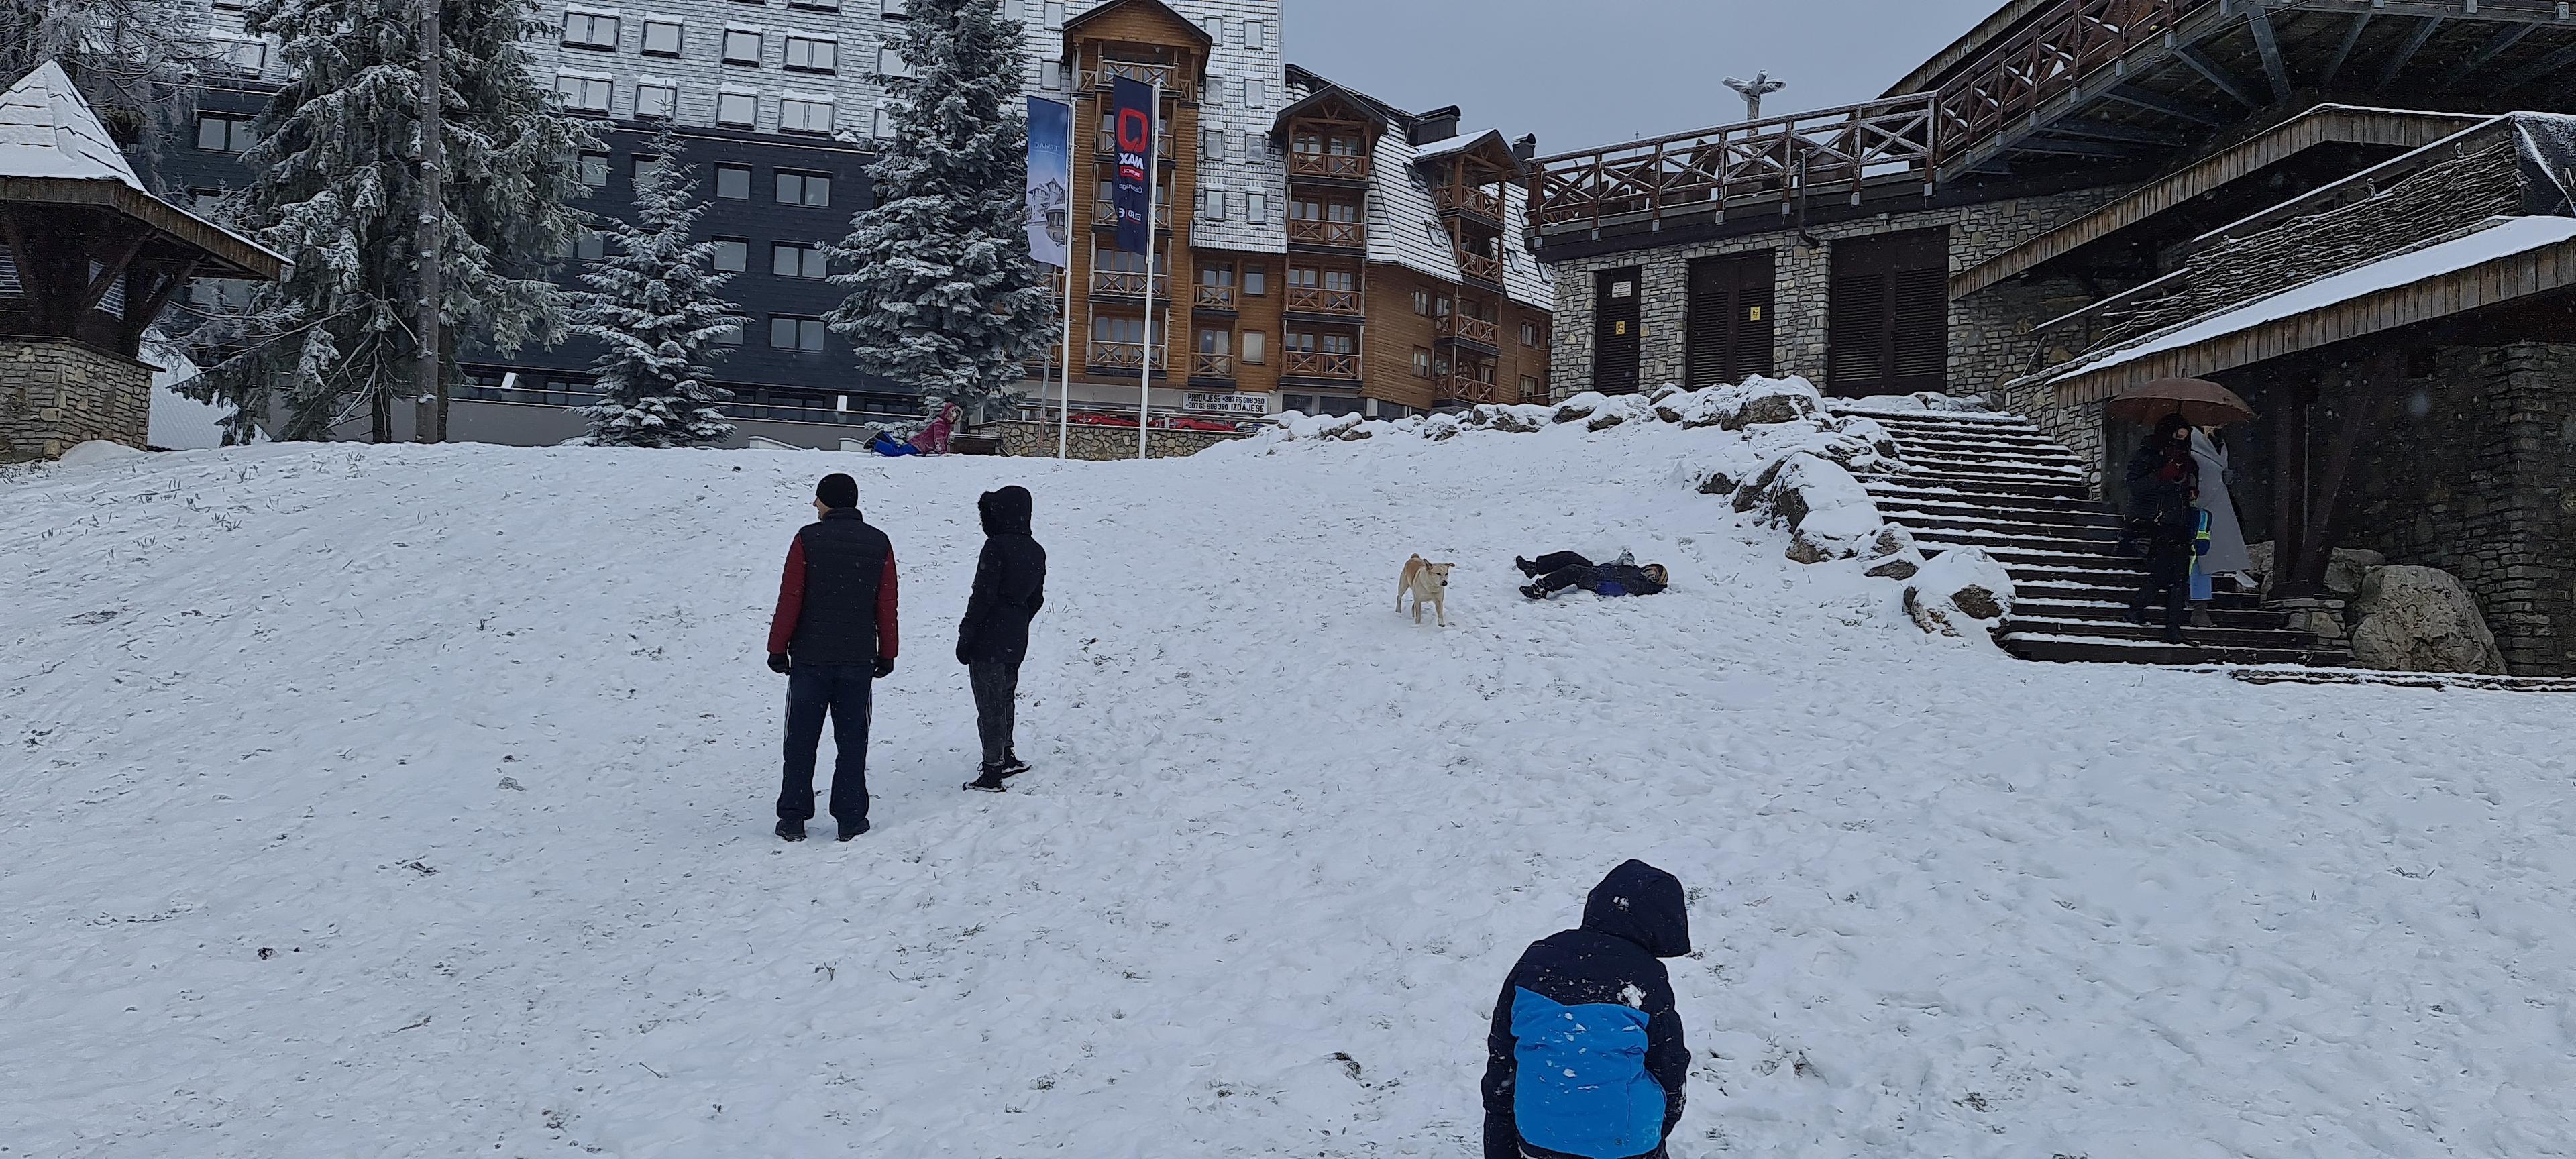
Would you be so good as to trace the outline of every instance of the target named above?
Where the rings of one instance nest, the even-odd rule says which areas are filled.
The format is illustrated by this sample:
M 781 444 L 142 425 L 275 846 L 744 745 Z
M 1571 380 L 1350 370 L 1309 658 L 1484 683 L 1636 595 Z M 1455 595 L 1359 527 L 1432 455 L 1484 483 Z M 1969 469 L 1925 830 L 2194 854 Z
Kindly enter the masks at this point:
M 533 0 L 443 0 L 446 216 L 440 319 L 446 358 L 459 335 L 513 353 L 554 343 L 567 294 L 546 281 L 585 214 L 582 121 L 536 88 L 523 36 Z M 252 33 L 281 41 L 291 80 L 252 124 L 242 152 L 252 183 L 245 227 L 294 260 L 242 317 L 201 343 L 237 350 L 191 394 L 237 407 L 232 438 L 273 410 L 278 438 L 330 438 L 368 415 L 392 438 L 392 404 L 412 389 L 417 335 L 420 72 L 410 0 L 252 0 Z M 270 407 L 276 402 L 276 407 Z

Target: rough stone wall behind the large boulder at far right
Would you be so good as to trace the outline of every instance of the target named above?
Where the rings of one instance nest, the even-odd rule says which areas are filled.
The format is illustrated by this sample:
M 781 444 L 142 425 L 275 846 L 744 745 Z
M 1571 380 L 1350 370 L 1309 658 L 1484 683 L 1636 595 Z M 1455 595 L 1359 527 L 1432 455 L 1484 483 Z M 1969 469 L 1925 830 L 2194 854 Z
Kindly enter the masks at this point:
M 2458 574 L 2514 675 L 2576 675 L 2576 345 L 2439 350 L 2344 502 L 2339 546 Z

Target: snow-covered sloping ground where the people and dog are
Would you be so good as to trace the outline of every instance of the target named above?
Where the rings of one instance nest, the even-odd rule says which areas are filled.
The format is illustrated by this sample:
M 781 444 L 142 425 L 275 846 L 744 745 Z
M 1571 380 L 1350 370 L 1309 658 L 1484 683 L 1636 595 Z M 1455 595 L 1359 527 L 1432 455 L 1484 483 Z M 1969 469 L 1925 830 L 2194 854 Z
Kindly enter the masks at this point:
M 1471 1156 L 1504 968 L 1631 855 L 1682 1159 L 2576 1154 L 2571 701 L 1927 639 L 1692 492 L 1736 440 L 5 474 L 0 1156 Z M 878 829 L 781 845 L 829 469 L 907 641 Z M 1002 482 L 1054 580 L 979 796 Z M 1512 590 L 1620 546 L 1677 587 Z

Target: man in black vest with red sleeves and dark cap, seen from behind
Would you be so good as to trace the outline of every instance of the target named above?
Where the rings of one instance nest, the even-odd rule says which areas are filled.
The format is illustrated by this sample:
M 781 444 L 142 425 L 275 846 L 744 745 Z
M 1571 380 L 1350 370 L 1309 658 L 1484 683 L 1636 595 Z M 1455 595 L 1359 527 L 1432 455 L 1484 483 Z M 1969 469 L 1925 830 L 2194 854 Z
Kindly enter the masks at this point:
M 814 747 L 832 713 L 832 819 L 840 840 L 868 832 L 868 698 L 894 672 L 894 543 L 858 515 L 858 479 L 814 487 L 822 523 L 806 523 L 778 577 L 770 672 L 788 677 L 786 786 L 778 837 L 804 840 L 814 819 Z

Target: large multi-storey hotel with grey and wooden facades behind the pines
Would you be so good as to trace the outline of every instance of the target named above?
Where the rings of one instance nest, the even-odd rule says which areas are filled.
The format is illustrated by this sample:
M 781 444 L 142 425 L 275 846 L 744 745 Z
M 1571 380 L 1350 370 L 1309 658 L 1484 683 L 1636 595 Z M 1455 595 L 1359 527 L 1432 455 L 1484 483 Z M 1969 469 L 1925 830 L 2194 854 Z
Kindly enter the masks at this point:
M 1499 137 L 1458 139 L 1455 111 L 1412 116 L 1288 67 L 1280 0 L 1002 3 L 1025 26 L 1025 90 L 1074 106 L 1077 412 L 1133 415 L 1144 373 L 1144 260 L 1113 250 L 1100 227 L 1108 185 L 1095 137 L 1113 75 L 1164 82 L 1157 412 L 1224 417 L 1288 404 L 1391 415 L 1517 399 L 1533 384 L 1543 391 L 1551 291 L 1520 245 L 1525 157 Z M 708 198 L 698 229 L 724 242 L 726 291 L 752 317 L 719 363 L 744 438 L 837 446 L 850 428 L 917 412 L 912 386 L 858 373 L 848 343 L 822 325 L 840 301 L 822 245 L 868 206 L 866 167 L 891 116 L 889 82 L 904 70 L 904 8 L 546 0 L 544 33 L 528 41 L 541 82 L 600 124 L 605 149 L 582 157 L 598 214 L 631 211 L 631 180 L 654 165 L 657 129 L 685 137 Z M 276 49 L 242 33 L 237 0 L 214 0 L 206 21 L 209 36 L 229 44 L 232 75 L 209 77 L 193 137 L 173 142 L 165 160 L 170 180 L 196 193 L 247 178 L 247 124 L 286 80 Z M 1321 126 L 1316 118 L 1350 124 L 1303 131 Z M 1298 162 L 1301 147 L 1360 155 Z M 1476 180 L 1463 188 L 1481 193 L 1443 209 L 1435 188 L 1445 175 Z M 1345 219 L 1327 229 L 1321 216 L 1298 224 L 1301 214 Z M 598 252 L 587 240 L 567 258 Z M 453 428 L 510 443 L 567 438 L 580 428 L 569 407 L 590 402 L 595 353 L 572 340 L 469 355 L 471 407 Z M 1061 384 L 1043 379 L 1033 366 L 1028 391 L 1051 404 Z

